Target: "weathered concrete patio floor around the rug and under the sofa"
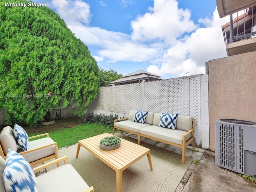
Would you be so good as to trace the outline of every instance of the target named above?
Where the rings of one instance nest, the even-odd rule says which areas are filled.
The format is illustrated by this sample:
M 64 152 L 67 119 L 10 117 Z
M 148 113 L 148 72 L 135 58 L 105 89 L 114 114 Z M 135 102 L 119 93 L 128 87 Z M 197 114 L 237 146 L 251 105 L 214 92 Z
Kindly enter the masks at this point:
M 122 134 L 138 139 L 136 134 Z M 142 137 L 141 141 L 181 154 L 181 148 Z M 201 148 L 186 148 L 186 156 L 193 161 L 175 192 L 256 192 L 256 183 L 215 164 L 215 153 Z M 199 161 L 200 160 L 200 161 Z M 199 161 L 199 162 L 198 162 Z

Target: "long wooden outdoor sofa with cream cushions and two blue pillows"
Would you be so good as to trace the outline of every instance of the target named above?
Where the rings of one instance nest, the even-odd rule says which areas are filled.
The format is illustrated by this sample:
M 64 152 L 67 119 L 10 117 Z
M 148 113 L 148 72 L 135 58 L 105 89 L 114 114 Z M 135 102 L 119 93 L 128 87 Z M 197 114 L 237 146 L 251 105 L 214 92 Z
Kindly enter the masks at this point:
M 139 114 L 139 110 L 130 110 L 128 118 L 114 120 L 114 130 L 124 130 L 138 135 L 138 144 L 140 145 L 140 139 L 142 136 L 164 142 L 173 146 L 182 148 L 182 164 L 185 164 L 186 146 L 192 142 L 192 147 L 195 148 L 194 143 L 194 130 L 195 119 L 192 116 L 184 116 L 180 114 L 165 114 L 165 113 L 153 113 L 147 112 L 146 118 L 143 121 L 142 116 Z M 163 121 L 164 116 L 175 116 L 174 123 L 171 124 L 171 128 L 161 127 L 160 120 Z M 140 122 L 134 122 L 136 116 Z M 176 122 L 176 123 L 175 123 Z M 168 125 L 169 126 L 169 125 Z M 168 127 L 167 126 L 167 127 Z

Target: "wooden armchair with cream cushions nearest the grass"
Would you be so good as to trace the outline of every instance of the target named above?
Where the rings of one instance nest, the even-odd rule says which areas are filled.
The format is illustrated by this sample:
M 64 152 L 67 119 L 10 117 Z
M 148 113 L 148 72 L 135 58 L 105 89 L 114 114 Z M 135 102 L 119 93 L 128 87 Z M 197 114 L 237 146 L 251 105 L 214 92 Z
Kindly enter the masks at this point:
M 33 138 L 38 139 L 29 141 Z M 48 133 L 28 137 L 28 150 L 22 150 L 14 137 L 14 130 L 6 126 L 0 133 L 0 156 L 4 159 L 6 159 L 9 148 L 22 155 L 31 166 L 58 158 L 57 143 L 49 137 Z

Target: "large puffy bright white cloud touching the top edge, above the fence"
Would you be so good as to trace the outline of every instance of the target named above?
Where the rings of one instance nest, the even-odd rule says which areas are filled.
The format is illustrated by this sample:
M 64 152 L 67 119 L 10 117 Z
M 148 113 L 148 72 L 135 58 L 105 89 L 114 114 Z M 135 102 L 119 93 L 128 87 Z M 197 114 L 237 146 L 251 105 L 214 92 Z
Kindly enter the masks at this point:
M 155 0 L 154 7 L 148 10 L 149 12 L 138 16 L 131 23 L 134 41 L 154 40 L 173 44 L 176 38 L 196 29 L 190 19 L 190 10 L 179 9 L 176 0 Z

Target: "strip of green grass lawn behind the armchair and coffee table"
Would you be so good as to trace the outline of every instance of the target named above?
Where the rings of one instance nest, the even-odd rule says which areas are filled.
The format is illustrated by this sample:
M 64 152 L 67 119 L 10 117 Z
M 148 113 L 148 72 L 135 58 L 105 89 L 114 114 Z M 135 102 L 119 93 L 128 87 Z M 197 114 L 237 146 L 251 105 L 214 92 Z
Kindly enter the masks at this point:
M 64 128 L 49 132 L 50 138 L 57 142 L 58 148 L 76 144 L 79 140 L 99 135 L 102 133 L 112 133 L 113 128 L 96 123 L 81 124 L 73 128 Z M 42 132 L 45 133 L 45 132 Z M 38 134 L 42 134 L 38 133 Z M 28 135 L 34 136 L 34 135 Z

